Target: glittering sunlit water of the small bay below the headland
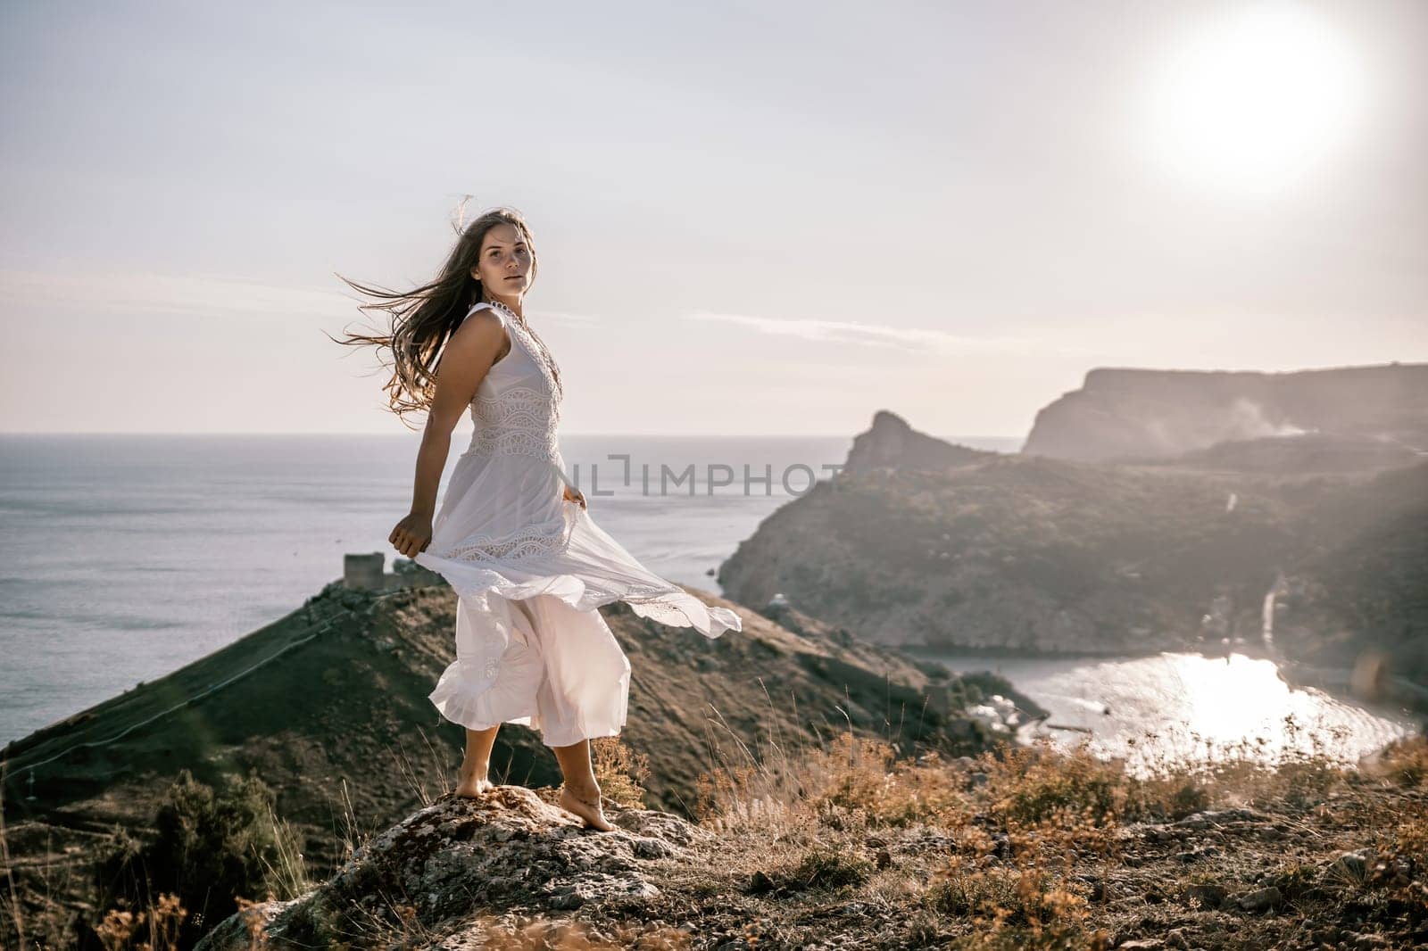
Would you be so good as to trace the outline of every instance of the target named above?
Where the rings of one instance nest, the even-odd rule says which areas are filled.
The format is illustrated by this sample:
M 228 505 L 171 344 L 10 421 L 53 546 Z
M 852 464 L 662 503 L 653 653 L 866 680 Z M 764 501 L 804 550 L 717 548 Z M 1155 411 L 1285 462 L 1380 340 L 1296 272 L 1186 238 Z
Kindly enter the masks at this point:
M 1230 654 L 1044 660 L 928 655 L 958 671 L 991 670 L 1051 711 L 1062 745 L 1090 738 L 1100 757 L 1135 771 L 1248 755 L 1277 763 L 1322 753 L 1352 763 L 1415 733 L 1407 713 L 1372 713 L 1312 687 L 1292 687 L 1271 660 Z

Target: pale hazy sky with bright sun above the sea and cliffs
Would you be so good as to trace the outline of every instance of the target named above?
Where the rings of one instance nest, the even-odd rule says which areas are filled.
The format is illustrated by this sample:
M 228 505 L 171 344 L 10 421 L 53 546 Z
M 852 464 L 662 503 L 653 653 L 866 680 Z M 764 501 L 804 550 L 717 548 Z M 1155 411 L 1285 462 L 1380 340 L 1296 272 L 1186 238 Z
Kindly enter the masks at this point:
M 1424 361 L 1424 49 L 1417 0 L 7 0 L 0 431 L 410 431 L 338 276 L 430 280 L 463 196 L 531 226 L 563 434 Z

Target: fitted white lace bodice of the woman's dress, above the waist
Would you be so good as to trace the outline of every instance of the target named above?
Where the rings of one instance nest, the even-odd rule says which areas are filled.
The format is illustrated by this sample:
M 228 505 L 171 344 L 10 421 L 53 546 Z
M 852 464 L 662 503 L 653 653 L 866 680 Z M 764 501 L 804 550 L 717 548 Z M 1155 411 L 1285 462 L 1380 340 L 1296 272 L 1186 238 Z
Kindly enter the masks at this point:
M 545 347 L 504 304 L 481 301 L 467 317 L 490 308 L 510 331 L 510 351 L 491 364 L 471 400 L 468 453 L 533 456 L 560 463 L 555 430 L 560 424 L 561 386 Z

